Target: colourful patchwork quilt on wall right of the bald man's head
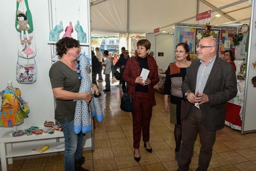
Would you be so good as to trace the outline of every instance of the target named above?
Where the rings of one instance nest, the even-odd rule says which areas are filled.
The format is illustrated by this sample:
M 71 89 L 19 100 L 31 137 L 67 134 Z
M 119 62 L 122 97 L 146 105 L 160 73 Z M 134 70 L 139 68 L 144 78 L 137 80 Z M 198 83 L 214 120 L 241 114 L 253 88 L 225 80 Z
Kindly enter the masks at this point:
M 220 32 L 220 45 L 219 45 L 219 57 L 223 58 L 225 50 L 232 50 L 236 53 L 236 47 L 233 42 L 233 35 L 236 34 L 237 30 L 225 29 Z

